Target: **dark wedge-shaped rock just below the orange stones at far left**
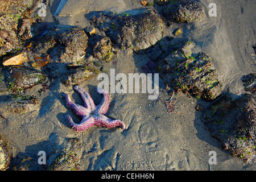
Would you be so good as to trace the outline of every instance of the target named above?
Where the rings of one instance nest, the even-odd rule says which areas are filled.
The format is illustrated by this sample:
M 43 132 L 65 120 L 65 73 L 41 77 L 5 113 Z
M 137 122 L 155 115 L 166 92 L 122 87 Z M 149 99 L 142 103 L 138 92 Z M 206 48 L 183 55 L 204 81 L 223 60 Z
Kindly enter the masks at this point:
M 16 65 L 5 70 L 5 81 L 13 92 L 43 83 L 46 77 L 43 72 L 30 67 Z

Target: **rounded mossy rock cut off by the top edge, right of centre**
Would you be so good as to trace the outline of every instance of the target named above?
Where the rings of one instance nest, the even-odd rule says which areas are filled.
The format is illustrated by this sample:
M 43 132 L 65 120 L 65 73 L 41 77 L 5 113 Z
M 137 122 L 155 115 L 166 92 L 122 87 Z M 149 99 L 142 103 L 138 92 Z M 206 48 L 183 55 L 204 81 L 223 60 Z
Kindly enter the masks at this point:
M 205 17 L 203 7 L 194 0 L 169 1 L 159 11 L 168 20 L 178 23 L 197 22 L 203 20 Z

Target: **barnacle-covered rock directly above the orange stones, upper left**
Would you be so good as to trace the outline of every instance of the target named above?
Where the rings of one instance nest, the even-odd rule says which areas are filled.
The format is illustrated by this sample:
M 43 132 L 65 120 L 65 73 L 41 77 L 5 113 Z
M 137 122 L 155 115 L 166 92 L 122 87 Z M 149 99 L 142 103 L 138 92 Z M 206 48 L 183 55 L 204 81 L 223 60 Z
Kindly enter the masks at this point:
M 53 54 L 56 53 L 60 63 L 79 65 L 77 62 L 84 55 L 87 46 L 88 36 L 84 30 L 70 26 L 59 26 L 52 27 L 38 40 L 36 52 L 50 54 L 52 51 L 56 51 Z

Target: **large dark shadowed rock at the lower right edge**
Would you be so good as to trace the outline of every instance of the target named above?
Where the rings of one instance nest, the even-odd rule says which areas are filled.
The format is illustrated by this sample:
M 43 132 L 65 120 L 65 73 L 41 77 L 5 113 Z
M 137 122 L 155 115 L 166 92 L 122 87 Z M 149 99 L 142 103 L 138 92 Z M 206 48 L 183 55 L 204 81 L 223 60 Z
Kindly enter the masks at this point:
M 228 150 L 246 163 L 256 156 L 255 97 L 243 94 L 232 100 L 230 94 L 220 98 L 203 114 L 203 121 L 212 137 L 220 140 Z

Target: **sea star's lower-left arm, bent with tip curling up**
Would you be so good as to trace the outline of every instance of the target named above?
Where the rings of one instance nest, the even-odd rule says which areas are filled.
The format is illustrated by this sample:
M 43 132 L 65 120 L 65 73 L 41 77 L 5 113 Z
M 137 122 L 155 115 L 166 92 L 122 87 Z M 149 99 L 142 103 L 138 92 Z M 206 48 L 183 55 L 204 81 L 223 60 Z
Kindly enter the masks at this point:
M 85 131 L 95 125 L 94 124 L 95 121 L 92 116 L 88 116 L 82 119 L 80 124 L 76 124 L 75 122 L 73 122 L 73 119 L 71 118 L 70 115 L 66 115 L 65 118 L 68 121 L 68 126 L 71 127 L 71 129 L 74 131 Z

